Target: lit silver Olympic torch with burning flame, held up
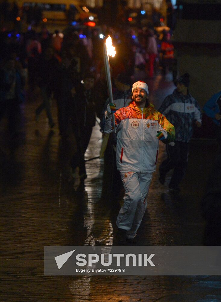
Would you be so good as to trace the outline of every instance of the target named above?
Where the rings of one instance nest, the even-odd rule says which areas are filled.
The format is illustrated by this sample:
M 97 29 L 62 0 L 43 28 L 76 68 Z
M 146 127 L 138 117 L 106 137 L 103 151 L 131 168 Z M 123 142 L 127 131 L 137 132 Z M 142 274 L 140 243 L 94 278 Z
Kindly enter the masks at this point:
M 115 54 L 116 54 L 116 50 L 115 50 L 115 47 L 113 47 L 113 45 L 112 45 L 112 39 L 110 36 L 108 36 L 108 38 L 106 39 L 106 42 L 104 43 L 104 66 L 105 66 L 105 72 L 106 72 L 107 87 L 108 87 L 108 91 L 109 91 L 110 103 L 113 103 L 113 94 L 112 94 L 109 56 L 114 57 Z M 114 133 L 116 133 L 114 113 L 112 113 L 112 121 L 113 121 L 113 125 L 114 125 Z

